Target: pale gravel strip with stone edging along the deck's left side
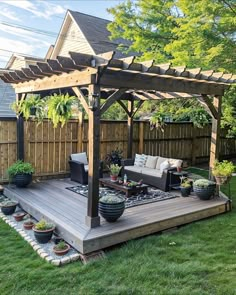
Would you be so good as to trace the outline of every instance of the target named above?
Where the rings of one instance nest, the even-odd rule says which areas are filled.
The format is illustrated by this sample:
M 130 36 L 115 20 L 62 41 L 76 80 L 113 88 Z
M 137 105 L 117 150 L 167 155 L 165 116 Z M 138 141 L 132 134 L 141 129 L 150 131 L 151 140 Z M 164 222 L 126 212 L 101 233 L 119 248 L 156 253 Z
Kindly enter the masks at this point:
M 17 212 L 25 212 L 19 207 L 17 207 L 15 213 Z M 4 215 L 2 212 L 0 212 L 0 218 L 5 221 L 8 225 L 10 225 L 13 229 L 15 229 L 22 238 L 28 242 L 34 251 L 38 253 L 38 255 L 46 260 L 47 262 L 55 265 L 55 266 L 61 266 L 64 264 L 68 264 L 74 261 L 78 261 L 80 259 L 80 254 L 78 251 L 76 251 L 74 248 L 70 248 L 69 252 L 63 256 L 57 256 L 53 252 L 53 247 L 55 246 L 55 243 L 53 242 L 53 238 L 55 237 L 53 235 L 53 238 L 51 241 L 49 241 L 47 244 L 39 244 L 35 237 L 33 230 L 26 230 L 23 227 L 24 219 L 22 221 L 15 221 L 15 218 L 13 215 Z M 31 218 L 33 221 L 37 222 L 34 218 Z

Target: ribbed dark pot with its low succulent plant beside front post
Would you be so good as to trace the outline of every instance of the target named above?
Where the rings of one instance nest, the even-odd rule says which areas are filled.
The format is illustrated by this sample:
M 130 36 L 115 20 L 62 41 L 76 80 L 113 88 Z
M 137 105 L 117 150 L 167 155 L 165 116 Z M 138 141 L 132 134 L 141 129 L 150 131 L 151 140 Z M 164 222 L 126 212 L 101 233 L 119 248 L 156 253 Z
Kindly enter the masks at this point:
M 106 195 L 99 200 L 99 212 L 108 222 L 115 222 L 125 210 L 125 199 L 116 195 Z

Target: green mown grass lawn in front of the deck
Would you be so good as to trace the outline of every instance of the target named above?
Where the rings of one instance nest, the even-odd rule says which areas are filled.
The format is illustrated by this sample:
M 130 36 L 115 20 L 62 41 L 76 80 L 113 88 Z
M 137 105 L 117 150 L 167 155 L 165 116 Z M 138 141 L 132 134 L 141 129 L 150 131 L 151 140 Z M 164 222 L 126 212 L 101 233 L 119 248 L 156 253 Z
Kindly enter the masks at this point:
M 236 177 L 231 182 L 236 201 Z M 0 221 L 0 294 L 236 294 L 235 213 L 130 241 L 87 266 L 61 268 Z

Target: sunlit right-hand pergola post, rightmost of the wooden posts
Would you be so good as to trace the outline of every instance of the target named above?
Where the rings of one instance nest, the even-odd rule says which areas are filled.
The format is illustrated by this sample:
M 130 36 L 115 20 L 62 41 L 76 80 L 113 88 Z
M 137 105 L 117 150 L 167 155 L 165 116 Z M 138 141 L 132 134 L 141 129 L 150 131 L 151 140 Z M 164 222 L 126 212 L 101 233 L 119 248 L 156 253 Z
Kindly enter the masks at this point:
M 215 96 L 213 105 L 217 111 L 216 118 L 212 118 L 212 131 L 211 131 L 211 147 L 210 147 L 210 163 L 209 163 L 209 176 L 214 166 L 215 160 L 219 159 L 220 152 L 220 121 L 221 121 L 221 104 L 222 96 Z

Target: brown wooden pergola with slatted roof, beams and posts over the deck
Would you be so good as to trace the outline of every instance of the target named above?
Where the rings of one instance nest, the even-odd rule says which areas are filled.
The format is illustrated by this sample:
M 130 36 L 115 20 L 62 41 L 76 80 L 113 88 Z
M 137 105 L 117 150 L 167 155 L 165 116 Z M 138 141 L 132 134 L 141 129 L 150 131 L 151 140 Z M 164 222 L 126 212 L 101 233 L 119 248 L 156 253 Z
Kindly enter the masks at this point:
M 61 90 L 73 92 L 89 118 L 89 195 L 86 224 L 100 224 L 99 143 L 100 117 L 118 102 L 128 116 L 128 157 L 132 156 L 133 118 L 146 100 L 196 97 L 212 116 L 210 169 L 219 156 L 221 103 L 225 90 L 236 76 L 223 72 L 202 71 L 155 65 L 153 60 L 135 62 L 135 57 L 113 58 L 114 52 L 88 55 L 70 52 L 70 57 L 38 62 L 21 70 L 0 71 L 0 78 L 13 84 L 16 99 L 27 94 L 46 96 Z M 213 97 L 213 103 L 210 97 Z M 101 103 L 101 98 L 106 98 Z M 124 101 L 128 101 L 128 106 Z M 23 159 L 23 119 L 18 119 L 18 158 Z

